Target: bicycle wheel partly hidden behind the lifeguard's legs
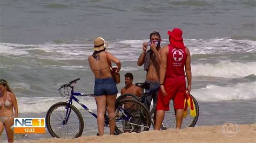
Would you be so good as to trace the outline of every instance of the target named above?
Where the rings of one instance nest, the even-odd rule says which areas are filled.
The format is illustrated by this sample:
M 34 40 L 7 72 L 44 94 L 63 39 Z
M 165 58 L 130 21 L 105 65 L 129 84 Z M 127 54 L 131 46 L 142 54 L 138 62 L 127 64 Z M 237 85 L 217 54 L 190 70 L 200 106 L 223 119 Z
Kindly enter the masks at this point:
M 191 117 L 190 110 L 187 109 L 188 110 L 187 117 L 183 118 L 181 128 L 193 127 L 194 125 L 196 125 L 198 117 L 199 117 L 199 106 L 198 106 L 197 100 L 192 95 L 190 95 L 190 97 L 194 101 L 197 116 Z M 170 102 L 170 110 L 165 111 L 164 121 L 163 121 L 163 124 L 161 125 L 162 130 L 166 130 L 167 128 L 173 128 L 173 129 L 176 128 L 176 113 L 173 108 L 173 102 Z

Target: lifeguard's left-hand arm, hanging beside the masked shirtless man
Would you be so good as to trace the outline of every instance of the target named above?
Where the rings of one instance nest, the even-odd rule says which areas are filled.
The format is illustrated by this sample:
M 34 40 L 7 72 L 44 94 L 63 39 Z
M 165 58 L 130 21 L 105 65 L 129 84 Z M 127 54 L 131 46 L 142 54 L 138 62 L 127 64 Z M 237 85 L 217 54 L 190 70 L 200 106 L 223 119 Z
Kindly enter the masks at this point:
M 164 79 L 167 68 L 167 54 L 169 52 L 169 47 L 166 46 L 161 50 L 161 64 L 160 64 L 160 89 L 164 96 L 166 96 L 166 91 L 164 88 Z

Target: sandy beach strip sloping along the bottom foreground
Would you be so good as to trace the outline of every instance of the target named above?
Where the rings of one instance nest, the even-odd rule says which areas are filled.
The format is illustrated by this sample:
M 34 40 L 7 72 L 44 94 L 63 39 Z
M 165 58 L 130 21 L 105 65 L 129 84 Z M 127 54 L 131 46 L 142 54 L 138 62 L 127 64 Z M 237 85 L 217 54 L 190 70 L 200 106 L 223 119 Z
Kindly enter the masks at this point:
M 234 130 L 233 130 L 234 129 Z M 183 130 L 147 131 L 77 139 L 44 139 L 23 142 L 256 142 L 256 124 L 238 125 L 224 134 L 222 125 L 188 127 Z M 234 135 L 234 136 L 233 136 Z M 233 137 L 228 137 L 233 136 Z

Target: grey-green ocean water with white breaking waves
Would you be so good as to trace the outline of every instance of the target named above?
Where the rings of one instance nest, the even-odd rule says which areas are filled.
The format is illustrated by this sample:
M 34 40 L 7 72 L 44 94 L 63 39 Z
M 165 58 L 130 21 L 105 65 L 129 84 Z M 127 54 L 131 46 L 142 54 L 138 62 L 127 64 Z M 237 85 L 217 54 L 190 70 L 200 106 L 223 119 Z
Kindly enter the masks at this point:
M 93 92 L 87 58 L 93 39 L 122 62 L 120 74 L 134 83 L 146 72 L 137 66 L 142 43 L 159 31 L 183 30 L 191 52 L 192 90 L 199 102 L 197 125 L 256 123 L 255 1 L 0 1 L 0 78 L 14 90 L 20 117 L 45 117 L 60 101 L 58 88 L 75 78 L 76 91 Z M 117 85 L 119 91 L 124 78 Z M 96 111 L 92 97 L 79 97 Z M 83 135 L 97 133 L 96 120 L 80 106 Z M 106 128 L 106 132 L 107 132 Z M 46 131 L 47 132 L 47 131 Z M 6 140 L 5 132 L 2 139 Z M 28 135 L 29 139 L 50 135 Z M 26 140 L 16 137 L 17 140 Z

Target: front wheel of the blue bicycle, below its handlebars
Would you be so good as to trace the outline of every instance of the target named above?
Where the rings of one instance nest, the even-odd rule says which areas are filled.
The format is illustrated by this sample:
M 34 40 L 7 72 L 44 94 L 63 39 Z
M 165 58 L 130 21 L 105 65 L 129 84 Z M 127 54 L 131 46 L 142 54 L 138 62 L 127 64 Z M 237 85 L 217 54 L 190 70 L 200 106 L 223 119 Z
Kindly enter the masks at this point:
M 78 109 L 68 103 L 58 102 L 53 104 L 46 113 L 46 127 L 52 137 L 56 138 L 78 138 L 84 130 L 84 121 Z M 65 117 L 69 118 L 65 123 Z

